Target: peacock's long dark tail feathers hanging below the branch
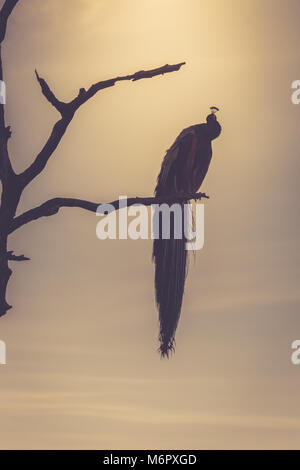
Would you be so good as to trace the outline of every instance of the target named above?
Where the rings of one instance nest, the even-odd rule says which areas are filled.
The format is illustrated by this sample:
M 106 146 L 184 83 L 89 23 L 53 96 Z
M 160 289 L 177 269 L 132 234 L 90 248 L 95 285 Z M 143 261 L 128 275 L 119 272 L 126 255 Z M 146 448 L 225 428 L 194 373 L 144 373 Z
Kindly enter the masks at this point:
M 182 213 L 183 207 L 182 203 Z M 169 357 L 175 350 L 175 332 L 180 318 L 187 271 L 184 231 L 180 239 L 175 239 L 172 232 L 171 223 L 171 238 L 160 237 L 153 244 L 155 294 L 160 322 L 159 352 L 162 357 Z

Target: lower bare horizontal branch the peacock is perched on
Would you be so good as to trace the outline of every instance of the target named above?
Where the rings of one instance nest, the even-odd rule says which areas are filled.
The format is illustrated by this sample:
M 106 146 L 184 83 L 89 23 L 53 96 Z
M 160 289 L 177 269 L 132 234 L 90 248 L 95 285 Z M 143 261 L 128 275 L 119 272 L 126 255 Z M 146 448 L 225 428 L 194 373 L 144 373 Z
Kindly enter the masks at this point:
M 173 196 L 165 197 L 132 197 L 127 199 L 127 207 L 132 206 L 133 204 L 142 204 L 144 206 L 150 206 L 152 204 L 162 204 L 165 202 L 174 203 L 180 201 L 189 201 L 191 199 L 198 200 L 201 198 L 209 199 L 205 193 L 194 193 L 194 194 L 176 194 Z M 122 201 L 122 199 L 121 199 Z M 44 202 L 38 207 L 30 209 L 23 214 L 15 217 L 12 221 L 12 224 L 9 228 L 9 233 L 14 232 L 28 222 L 33 220 L 40 219 L 41 217 L 49 217 L 50 215 L 57 214 L 59 209 L 62 207 L 77 207 L 90 212 L 96 213 L 97 208 L 101 205 L 101 202 L 90 202 L 83 199 L 74 199 L 74 198 L 62 198 L 57 197 L 49 199 L 49 201 Z M 120 200 L 109 202 L 108 204 L 112 205 L 115 210 L 120 208 Z

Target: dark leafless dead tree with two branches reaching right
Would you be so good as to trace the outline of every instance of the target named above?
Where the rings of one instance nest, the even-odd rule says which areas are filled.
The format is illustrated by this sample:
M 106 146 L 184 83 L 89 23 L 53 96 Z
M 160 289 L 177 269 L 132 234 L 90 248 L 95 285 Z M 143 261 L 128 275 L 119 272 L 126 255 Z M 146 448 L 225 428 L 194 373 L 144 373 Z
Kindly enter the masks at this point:
M 20 0 L 6 0 L 0 11 L 0 80 L 3 82 L 2 71 L 2 55 L 1 48 L 5 39 L 6 27 L 9 16 L 11 15 L 14 7 Z M 0 104 L 0 181 L 2 186 L 1 206 L 0 206 L 0 316 L 11 308 L 6 301 L 6 289 L 12 270 L 9 267 L 11 261 L 25 261 L 28 260 L 24 255 L 15 255 L 13 251 L 7 251 L 7 241 L 11 233 L 22 227 L 23 225 L 33 220 L 45 216 L 56 214 L 61 207 L 78 207 L 91 212 L 96 212 L 99 203 L 84 201 L 81 199 L 57 197 L 50 199 L 38 207 L 30 209 L 21 215 L 16 216 L 18 204 L 23 190 L 29 185 L 34 178 L 36 178 L 47 165 L 48 160 L 58 147 L 64 133 L 66 132 L 69 124 L 71 123 L 74 114 L 86 101 L 92 98 L 100 90 L 114 86 L 117 82 L 124 80 L 137 81 L 144 78 L 151 78 L 156 75 L 163 75 L 165 73 L 174 72 L 181 68 L 185 62 L 175 65 L 164 65 L 162 67 L 152 70 L 141 70 L 132 75 L 125 75 L 104 80 L 91 85 L 87 90 L 80 88 L 78 95 L 69 102 L 60 101 L 53 91 L 50 89 L 46 80 L 40 77 L 35 71 L 36 78 L 40 84 L 42 94 L 51 103 L 52 106 L 60 114 L 58 121 L 54 124 L 51 133 L 33 162 L 22 173 L 17 174 L 11 163 L 8 153 L 8 140 L 11 137 L 11 128 L 5 124 L 4 116 L 4 103 Z M 174 201 L 180 199 L 200 199 L 206 197 L 205 194 L 198 193 L 192 195 L 182 195 L 173 198 Z M 169 198 L 170 200 L 170 198 Z M 167 201 L 167 198 L 130 198 L 128 199 L 128 206 L 136 203 L 151 205 L 153 203 L 161 203 Z M 111 204 L 117 210 L 119 208 L 119 201 L 114 201 Z

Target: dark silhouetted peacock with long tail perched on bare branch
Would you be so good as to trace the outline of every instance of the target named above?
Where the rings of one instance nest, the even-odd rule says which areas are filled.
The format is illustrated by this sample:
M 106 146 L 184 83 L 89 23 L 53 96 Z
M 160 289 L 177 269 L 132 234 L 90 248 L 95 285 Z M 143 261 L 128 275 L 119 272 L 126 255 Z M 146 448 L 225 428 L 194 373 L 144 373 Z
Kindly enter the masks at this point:
M 206 123 L 184 129 L 167 150 L 155 188 L 156 196 L 193 194 L 199 190 L 207 174 L 212 158 L 212 141 L 221 133 L 216 118 L 219 109 L 210 108 Z M 181 211 L 187 201 L 180 202 Z M 187 250 L 184 226 L 182 236 L 177 238 L 174 230 L 174 214 L 170 211 L 170 237 L 161 233 L 162 214 L 159 214 L 159 236 L 153 243 L 155 263 L 155 296 L 159 312 L 159 351 L 169 357 L 174 351 L 175 333 L 181 313 L 184 286 L 187 274 Z M 182 217 L 182 224 L 186 223 Z

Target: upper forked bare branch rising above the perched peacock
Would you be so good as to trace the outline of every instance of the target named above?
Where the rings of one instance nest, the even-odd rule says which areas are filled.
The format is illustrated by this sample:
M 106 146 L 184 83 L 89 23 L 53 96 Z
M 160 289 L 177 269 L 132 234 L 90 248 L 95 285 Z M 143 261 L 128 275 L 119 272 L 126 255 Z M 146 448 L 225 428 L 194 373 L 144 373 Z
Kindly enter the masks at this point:
M 103 90 L 104 88 L 112 87 L 115 85 L 116 82 L 119 81 L 137 81 L 144 78 L 151 78 L 156 75 L 164 75 L 165 73 L 174 72 L 179 70 L 184 64 L 185 62 L 181 62 L 175 65 L 166 64 L 156 69 L 141 70 L 132 75 L 115 77 L 110 80 L 104 80 L 95 83 L 87 91 L 84 88 L 81 88 L 76 98 L 74 98 L 69 103 L 64 103 L 58 100 L 53 91 L 50 89 L 46 80 L 41 78 L 38 72 L 36 71 L 36 77 L 41 86 L 43 95 L 49 101 L 49 103 L 51 103 L 52 106 L 54 106 L 57 111 L 59 111 L 62 118 L 57 121 L 54 125 L 50 137 L 48 138 L 41 152 L 37 155 L 35 161 L 20 175 L 23 185 L 26 186 L 27 184 L 29 184 L 30 181 L 32 181 L 38 174 L 43 171 L 49 158 L 59 145 L 68 125 L 70 124 L 74 116 L 74 113 L 78 110 L 78 108 L 80 108 L 82 104 L 92 98 L 98 91 Z

